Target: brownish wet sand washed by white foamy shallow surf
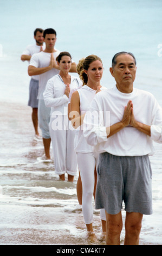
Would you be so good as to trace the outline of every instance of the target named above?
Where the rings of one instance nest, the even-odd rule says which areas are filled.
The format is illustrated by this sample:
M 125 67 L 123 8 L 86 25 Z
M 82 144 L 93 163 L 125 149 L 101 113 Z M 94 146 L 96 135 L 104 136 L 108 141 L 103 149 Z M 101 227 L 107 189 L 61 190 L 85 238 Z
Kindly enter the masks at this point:
M 0 116 L 0 245 L 87 245 L 86 227 L 76 196 L 77 177 L 73 184 L 62 182 L 55 175 L 54 163 L 37 161 L 43 154 L 43 145 L 33 141 L 28 106 L 3 102 Z M 161 162 L 156 158 L 154 161 L 158 169 Z M 153 191 L 158 190 L 159 178 L 155 176 Z M 157 192 L 158 198 L 156 194 L 153 198 L 157 206 L 154 214 L 144 217 L 140 245 L 160 245 L 161 194 Z M 122 215 L 124 221 L 125 211 Z M 96 210 L 94 230 L 99 237 L 101 222 Z M 124 229 L 121 244 L 123 241 Z

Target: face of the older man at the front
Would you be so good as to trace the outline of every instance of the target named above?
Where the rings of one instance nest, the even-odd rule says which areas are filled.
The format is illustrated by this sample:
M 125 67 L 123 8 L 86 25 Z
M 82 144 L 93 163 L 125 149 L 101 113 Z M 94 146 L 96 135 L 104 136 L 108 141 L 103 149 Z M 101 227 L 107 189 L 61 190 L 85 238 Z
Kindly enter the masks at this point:
M 137 66 L 135 65 L 134 58 L 129 54 L 120 54 L 116 58 L 114 69 L 110 69 L 116 84 L 120 86 L 129 86 L 130 84 L 133 84 L 136 70 Z

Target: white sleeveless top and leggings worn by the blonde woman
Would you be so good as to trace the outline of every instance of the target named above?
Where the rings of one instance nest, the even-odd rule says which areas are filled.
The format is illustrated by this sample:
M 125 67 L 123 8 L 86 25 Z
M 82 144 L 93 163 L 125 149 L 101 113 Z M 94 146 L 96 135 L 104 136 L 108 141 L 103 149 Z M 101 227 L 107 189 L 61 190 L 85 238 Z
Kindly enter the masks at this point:
M 101 89 L 105 89 L 102 87 Z M 96 90 L 88 86 L 83 86 L 77 90 L 80 97 L 80 115 L 86 113 L 90 102 L 96 95 Z M 83 137 L 82 125 L 80 126 L 79 133 L 76 140 L 76 155 L 77 164 L 79 167 L 81 180 L 82 180 L 82 210 L 86 224 L 93 222 L 93 205 L 92 198 L 94 192 L 94 169 L 98 166 L 98 154 L 94 152 L 94 147 L 87 144 L 86 139 Z M 85 154 L 86 153 L 86 154 Z M 106 221 L 105 209 L 100 210 L 101 220 Z

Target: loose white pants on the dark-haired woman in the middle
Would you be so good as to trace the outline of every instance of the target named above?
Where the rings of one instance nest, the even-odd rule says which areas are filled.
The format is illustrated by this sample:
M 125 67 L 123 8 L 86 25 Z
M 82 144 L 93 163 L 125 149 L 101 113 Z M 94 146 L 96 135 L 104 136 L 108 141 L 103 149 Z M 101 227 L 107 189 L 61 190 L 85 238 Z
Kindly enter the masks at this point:
M 57 125 L 57 127 L 56 127 Z M 58 128 L 58 129 L 57 129 Z M 54 153 L 56 174 L 77 174 L 76 153 L 74 152 L 75 130 L 69 129 L 66 115 L 50 118 L 49 131 Z

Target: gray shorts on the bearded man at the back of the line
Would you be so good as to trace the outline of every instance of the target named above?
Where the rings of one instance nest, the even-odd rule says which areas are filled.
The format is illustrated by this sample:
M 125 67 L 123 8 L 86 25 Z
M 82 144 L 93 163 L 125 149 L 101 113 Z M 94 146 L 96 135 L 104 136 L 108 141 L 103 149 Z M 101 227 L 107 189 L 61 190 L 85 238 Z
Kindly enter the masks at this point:
M 38 80 L 35 80 L 31 78 L 30 84 L 29 84 L 29 101 L 28 106 L 32 108 L 38 108 L 38 89 L 39 89 L 39 82 Z

